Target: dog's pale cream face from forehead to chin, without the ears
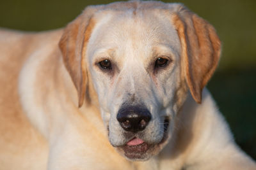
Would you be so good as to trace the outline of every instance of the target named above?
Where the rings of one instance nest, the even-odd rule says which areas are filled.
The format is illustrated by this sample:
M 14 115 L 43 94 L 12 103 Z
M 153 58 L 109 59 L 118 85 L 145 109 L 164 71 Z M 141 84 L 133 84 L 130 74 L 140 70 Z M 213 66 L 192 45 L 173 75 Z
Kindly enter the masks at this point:
M 148 159 L 173 127 L 179 36 L 157 13 L 130 10 L 100 18 L 88 43 L 88 67 L 109 141 L 129 159 Z

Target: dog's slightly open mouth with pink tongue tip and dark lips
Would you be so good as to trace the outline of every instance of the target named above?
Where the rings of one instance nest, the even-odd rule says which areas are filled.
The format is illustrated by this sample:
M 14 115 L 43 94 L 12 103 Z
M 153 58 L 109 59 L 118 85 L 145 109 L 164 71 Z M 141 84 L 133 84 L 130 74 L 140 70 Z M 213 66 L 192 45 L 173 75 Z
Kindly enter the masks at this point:
M 130 141 L 128 141 L 125 145 L 119 146 L 118 150 L 122 150 L 125 157 L 131 160 L 147 160 L 154 153 L 158 153 L 161 150 L 161 145 L 163 145 L 164 141 L 168 138 L 168 126 L 169 119 L 164 119 L 164 135 L 161 141 L 157 144 L 148 144 L 143 141 L 143 139 L 134 137 Z

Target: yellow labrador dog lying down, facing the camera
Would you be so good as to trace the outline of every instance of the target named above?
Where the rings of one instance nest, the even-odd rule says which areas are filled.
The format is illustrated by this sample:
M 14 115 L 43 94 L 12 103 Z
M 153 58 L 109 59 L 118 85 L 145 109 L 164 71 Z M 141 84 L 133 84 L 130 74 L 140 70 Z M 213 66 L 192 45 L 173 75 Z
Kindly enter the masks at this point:
M 0 169 L 256 169 L 204 89 L 220 51 L 212 25 L 156 1 L 1 30 Z

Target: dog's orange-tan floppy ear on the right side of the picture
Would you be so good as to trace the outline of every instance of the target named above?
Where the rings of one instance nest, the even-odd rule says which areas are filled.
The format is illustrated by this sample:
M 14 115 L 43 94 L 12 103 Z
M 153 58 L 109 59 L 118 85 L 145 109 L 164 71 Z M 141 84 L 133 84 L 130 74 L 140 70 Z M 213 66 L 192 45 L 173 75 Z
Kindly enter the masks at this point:
M 202 90 L 220 59 L 221 43 L 214 27 L 182 4 L 173 14 L 182 48 L 182 69 L 191 95 L 201 103 Z

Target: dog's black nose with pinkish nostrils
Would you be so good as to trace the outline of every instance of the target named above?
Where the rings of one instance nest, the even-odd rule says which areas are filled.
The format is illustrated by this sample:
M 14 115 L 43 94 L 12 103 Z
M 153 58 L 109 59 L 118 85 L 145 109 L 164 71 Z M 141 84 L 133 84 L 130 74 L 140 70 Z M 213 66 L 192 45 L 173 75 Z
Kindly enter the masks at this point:
M 116 118 L 125 131 L 138 132 L 147 127 L 151 114 L 146 108 L 128 106 L 120 109 Z

